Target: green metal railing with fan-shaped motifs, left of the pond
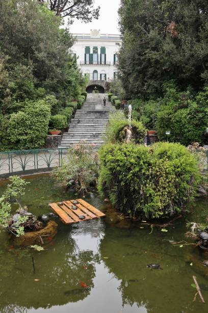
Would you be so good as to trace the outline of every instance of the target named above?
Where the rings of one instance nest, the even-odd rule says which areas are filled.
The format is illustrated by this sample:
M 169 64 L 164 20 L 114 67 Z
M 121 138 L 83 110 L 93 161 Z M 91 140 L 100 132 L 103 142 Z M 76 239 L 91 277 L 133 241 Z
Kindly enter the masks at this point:
M 17 150 L 0 152 L 0 176 L 19 172 L 36 172 L 61 166 L 68 148 Z

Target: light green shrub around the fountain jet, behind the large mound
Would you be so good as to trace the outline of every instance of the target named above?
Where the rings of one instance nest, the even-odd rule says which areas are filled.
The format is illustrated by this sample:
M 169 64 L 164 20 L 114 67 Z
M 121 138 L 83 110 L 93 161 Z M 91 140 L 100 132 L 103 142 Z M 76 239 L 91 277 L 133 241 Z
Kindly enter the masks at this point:
M 128 124 L 129 122 L 122 111 L 117 111 L 111 114 L 109 117 L 109 123 L 106 127 L 105 141 L 108 143 L 124 142 Z M 145 134 L 146 128 L 142 123 L 132 120 L 132 141 L 138 144 L 143 143 Z

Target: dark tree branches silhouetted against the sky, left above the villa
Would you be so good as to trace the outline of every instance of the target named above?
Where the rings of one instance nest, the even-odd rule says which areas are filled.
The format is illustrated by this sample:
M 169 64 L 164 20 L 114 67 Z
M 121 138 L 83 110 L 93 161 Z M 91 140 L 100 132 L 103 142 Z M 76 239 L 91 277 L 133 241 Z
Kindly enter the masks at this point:
M 72 23 L 74 18 L 81 19 L 85 23 L 91 22 L 93 18 L 98 19 L 100 7 L 94 8 L 94 0 L 38 0 L 48 3 L 48 8 L 55 11 L 56 15 L 69 17 Z

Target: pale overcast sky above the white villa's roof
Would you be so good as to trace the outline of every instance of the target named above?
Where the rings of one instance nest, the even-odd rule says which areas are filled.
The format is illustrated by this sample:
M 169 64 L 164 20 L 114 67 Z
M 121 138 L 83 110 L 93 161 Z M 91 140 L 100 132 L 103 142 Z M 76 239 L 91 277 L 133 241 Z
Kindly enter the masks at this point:
M 95 7 L 100 6 L 100 16 L 92 23 L 81 23 L 75 19 L 69 27 L 71 33 L 90 33 L 91 29 L 99 29 L 101 34 L 119 34 L 118 8 L 120 0 L 95 0 Z

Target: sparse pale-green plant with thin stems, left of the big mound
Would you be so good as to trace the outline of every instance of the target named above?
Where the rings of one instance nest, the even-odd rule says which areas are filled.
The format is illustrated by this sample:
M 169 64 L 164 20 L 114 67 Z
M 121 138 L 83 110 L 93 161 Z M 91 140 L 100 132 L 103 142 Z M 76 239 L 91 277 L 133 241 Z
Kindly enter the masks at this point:
M 53 170 L 52 176 L 57 181 L 57 185 L 68 188 L 74 182 L 74 188 L 78 191 L 88 191 L 97 183 L 98 177 L 98 158 L 93 150 L 93 145 L 81 141 L 74 145 L 68 152 L 62 166 Z

